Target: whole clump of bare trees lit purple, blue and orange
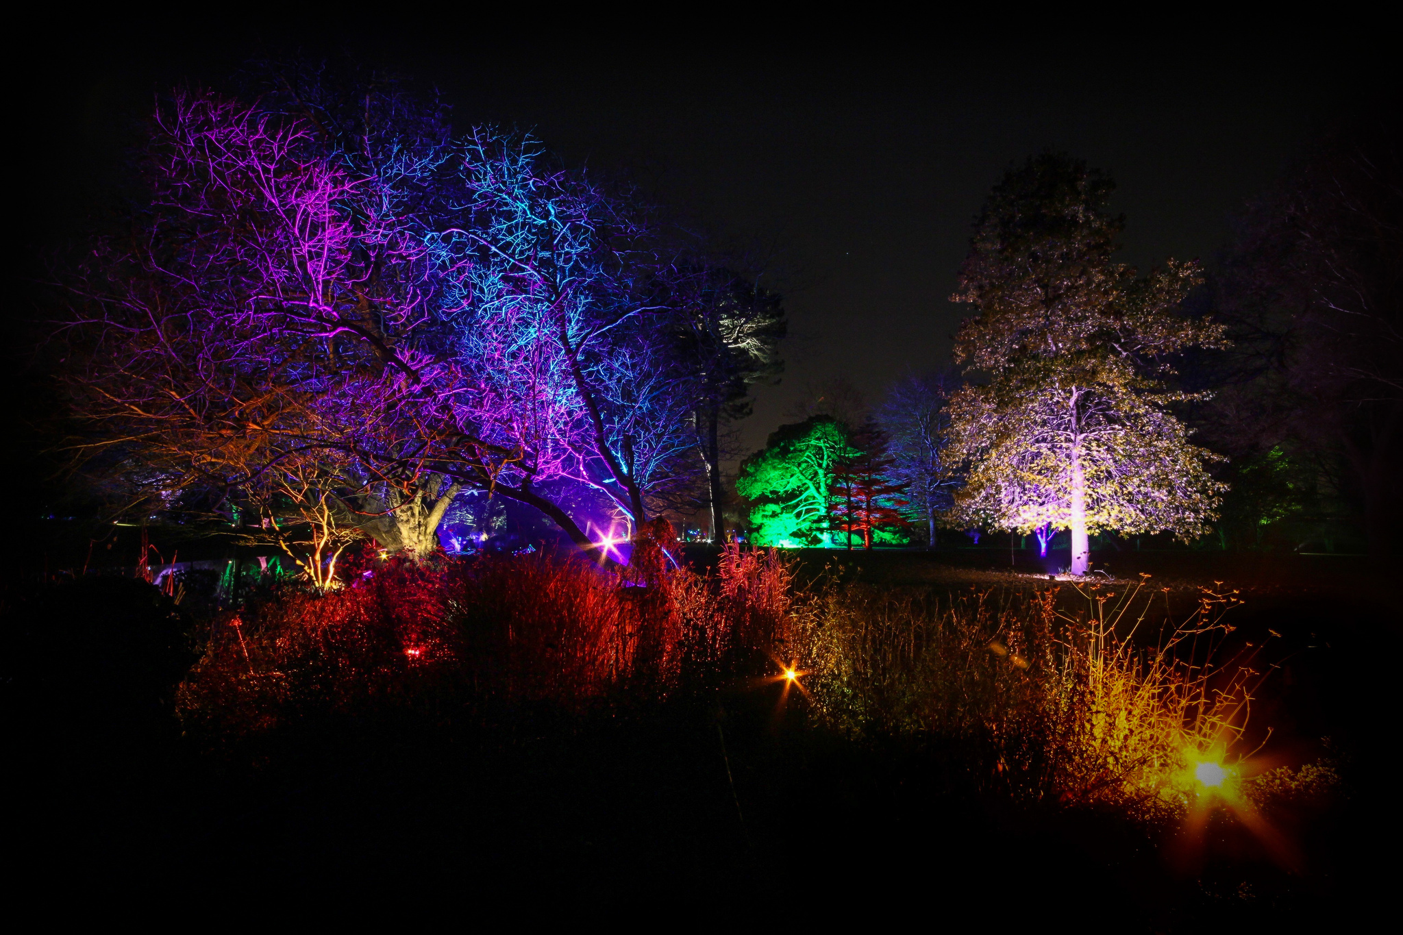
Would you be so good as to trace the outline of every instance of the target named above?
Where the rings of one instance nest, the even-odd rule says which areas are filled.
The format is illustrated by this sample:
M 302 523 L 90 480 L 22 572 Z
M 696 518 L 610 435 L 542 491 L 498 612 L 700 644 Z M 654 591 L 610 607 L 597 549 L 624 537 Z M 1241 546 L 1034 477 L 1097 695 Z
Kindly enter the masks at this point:
M 529 137 L 455 137 L 393 84 L 290 69 L 254 105 L 177 95 L 142 178 L 60 338 L 70 447 L 143 509 L 325 513 L 425 552 L 469 485 L 592 548 L 586 520 L 637 524 L 693 482 L 699 387 L 772 364 L 762 293 L 717 303 L 727 373 L 679 352 L 699 273 L 627 192 Z

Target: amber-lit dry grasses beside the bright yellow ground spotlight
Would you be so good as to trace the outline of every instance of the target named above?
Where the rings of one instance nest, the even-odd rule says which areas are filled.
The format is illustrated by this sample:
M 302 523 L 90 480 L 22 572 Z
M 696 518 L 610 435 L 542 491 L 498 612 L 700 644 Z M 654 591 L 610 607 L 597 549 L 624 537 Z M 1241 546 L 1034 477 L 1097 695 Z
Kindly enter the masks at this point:
M 1258 674 L 1221 660 L 1232 596 L 1177 622 L 1139 585 L 950 596 L 828 583 L 798 604 L 794 650 L 825 721 L 955 742 L 986 788 L 1021 800 L 1179 813 L 1200 763 L 1233 771 Z M 1065 597 L 1065 596 L 1063 596 Z M 1163 613 L 1163 611 L 1160 611 Z

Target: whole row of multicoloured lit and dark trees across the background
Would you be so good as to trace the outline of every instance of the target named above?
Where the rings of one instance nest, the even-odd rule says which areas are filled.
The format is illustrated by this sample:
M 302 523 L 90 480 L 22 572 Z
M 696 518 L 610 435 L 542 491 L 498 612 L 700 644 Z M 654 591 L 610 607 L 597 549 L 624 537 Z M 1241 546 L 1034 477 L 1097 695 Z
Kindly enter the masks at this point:
M 1388 551 L 1396 114 L 1324 136 L 1207 272 L 1117 262 L 1104 172 L 1010 168 L 953 296 L 974 313 L 962 370 L 871 411 L 811 394 L 741 461 L 732 516 L 794 547 L 1066 531 L 1073 573 L 1096 534 Z M 783 367 L 760 264 L 355 69 L 175 91 L 132 174 L 140 195 L 62 275 L 49 342 L 60 447 L 111 516 L 223 523 L 318 587 L 356 541 L 424 555 L 446 517 L 487 530 L 504 503 L 599 558 L 658 516 L 724 535 L 728 426 Z

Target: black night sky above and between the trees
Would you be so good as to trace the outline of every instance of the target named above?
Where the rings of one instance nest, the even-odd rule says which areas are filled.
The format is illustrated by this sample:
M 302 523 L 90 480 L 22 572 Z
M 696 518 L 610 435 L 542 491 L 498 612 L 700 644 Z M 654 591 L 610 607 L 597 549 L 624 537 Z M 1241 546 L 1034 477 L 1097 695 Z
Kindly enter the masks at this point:
M 41 243 L 74 230 L 109 184 L 121 128 L 157 87 L 217 83 L 269 39 L 351 49 L 436 83 L 459 122 L 533 129 L 568 161 L 627 170 L 723 237 L 773 250 L 793 339 L 781 385 L 760 391 L 745 426 L 748 447 L 810 381 L 845 374 L 878 397 L 902 371 L 948 362 L 962 308 L 946 296 L 969 221 L 1012 161 L 1052 147 L 1110 170 L 1128 262 L 1208 259 L 1229 216 L 1383 74 L 1357 46 L 1284 43 L 494 56 L 393 34 L 173 35 L 88 36 L 35 59 L 28 119 L 45 144 L 28 153 L 36 184 L 22 196 Z

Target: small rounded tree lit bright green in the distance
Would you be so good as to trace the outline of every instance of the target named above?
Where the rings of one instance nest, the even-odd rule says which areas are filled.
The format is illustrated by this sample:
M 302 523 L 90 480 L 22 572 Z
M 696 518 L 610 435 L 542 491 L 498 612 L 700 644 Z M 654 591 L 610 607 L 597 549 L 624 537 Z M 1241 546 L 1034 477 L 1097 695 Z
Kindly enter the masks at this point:
M 847 426 L 826 415 L 781 425 L 763 450 L 741 463 L 735 489 L 752 502 L 756 545 L 829 545 L 833 471 L 857 451 Z

